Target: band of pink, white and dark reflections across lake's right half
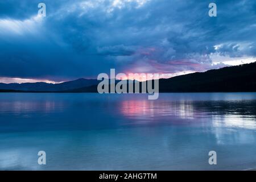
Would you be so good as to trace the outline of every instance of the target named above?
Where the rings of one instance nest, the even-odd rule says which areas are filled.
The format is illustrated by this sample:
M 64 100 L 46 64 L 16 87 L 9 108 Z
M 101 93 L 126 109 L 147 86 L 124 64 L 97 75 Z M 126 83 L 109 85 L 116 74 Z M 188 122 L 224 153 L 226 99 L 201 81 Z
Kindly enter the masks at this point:
M 159 119 L 167 122 L 211 121 L 214 127 L 256 129 L 256 100 L 148 101 L 125 100 L 120 113 L 135 122 Z

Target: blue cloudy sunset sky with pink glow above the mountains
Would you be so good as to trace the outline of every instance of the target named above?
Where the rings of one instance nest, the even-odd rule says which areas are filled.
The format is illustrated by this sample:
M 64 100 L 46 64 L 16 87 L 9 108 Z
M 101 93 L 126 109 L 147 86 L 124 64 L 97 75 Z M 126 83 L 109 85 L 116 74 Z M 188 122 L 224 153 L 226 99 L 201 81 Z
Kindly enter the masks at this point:
M 172 77 L 251 63 L 255 20 L 249 0 L 0 1 L 0 82 L 97 78 L 111 68 Z

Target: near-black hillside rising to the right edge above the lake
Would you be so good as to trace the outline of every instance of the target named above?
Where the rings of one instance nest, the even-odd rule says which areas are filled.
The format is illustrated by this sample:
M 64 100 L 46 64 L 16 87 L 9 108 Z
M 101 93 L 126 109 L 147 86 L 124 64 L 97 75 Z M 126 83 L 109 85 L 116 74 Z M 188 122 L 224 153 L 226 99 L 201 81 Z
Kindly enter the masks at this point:
M 256 62 L 159 80 L 160 92 L 256 92 Z

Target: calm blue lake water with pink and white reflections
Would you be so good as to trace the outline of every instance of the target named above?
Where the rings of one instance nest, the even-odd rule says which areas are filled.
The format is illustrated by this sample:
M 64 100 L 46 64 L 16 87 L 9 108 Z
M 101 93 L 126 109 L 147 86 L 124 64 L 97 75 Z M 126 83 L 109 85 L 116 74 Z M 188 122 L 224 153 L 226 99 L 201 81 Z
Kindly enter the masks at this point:
M 1 170 L 249 168 L 256 93 L 0 94 Z

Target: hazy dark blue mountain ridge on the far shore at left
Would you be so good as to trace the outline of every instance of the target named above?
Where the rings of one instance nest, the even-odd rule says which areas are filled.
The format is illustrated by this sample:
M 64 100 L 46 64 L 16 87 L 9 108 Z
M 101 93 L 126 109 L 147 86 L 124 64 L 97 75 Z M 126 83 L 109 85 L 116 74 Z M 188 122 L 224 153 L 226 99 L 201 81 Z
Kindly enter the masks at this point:
M 48 84 L 45 82 L 3 84 L 0 83 L 0 90 L 23 90 L 36 92 L 60 92 L 64 90 L 78 89 L 85 86 L 97 85 L 98 80 L 80 78 L 74 81 L 62 82 L 60 84 Z

